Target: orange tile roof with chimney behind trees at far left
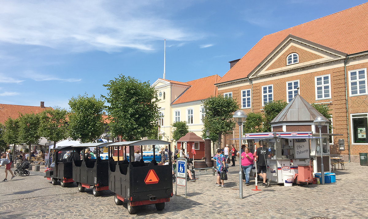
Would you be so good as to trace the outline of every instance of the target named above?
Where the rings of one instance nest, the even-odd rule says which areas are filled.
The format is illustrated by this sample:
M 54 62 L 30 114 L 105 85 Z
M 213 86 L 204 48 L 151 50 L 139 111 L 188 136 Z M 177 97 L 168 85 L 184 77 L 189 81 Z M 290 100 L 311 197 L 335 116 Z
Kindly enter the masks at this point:
M 32 107 L 32 106 L 22 106 L 22 105 L 10 105 L 10 104 L 0 104 L 0 123 L 4 124 L 5 121 L 10 117 L 16 119 L 19 114 L 38 114 L 44 110 L 52 109 L 51 107 Z

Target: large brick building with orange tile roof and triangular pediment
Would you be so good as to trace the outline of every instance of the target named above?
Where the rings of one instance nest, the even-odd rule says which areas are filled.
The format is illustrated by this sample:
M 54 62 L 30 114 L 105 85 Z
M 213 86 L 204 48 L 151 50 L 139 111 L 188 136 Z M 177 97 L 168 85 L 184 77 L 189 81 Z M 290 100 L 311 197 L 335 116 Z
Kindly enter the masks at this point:
M 368 152 L 367 10 L 365 3 L 263 37 L 230 62 L 215 84 L 219 94 L 236 98 L 246 113 L 262 112 L 269 101 L 290 102 L 297 92 L 311 104 L 328 104 L 333 133 L 343 134 L 330 139 L 330 153 L 358 161 L 359 152 Z

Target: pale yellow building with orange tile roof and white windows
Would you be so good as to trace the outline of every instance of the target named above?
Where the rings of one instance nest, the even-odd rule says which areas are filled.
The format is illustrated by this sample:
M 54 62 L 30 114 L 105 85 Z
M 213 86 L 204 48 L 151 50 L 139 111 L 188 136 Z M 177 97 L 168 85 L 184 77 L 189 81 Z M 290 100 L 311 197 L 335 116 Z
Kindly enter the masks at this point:
M 173 127 L 176 121 L 186 121 L 189 131 L 202 136 L 205 117 L 202 112 L 202 100 L 217 95 L 217 87 L 214 85 L 221 79 L 217 74 L 200 79 L 180 82 L 167 79 L 157 79 L 152 87 L 159 97 L 159 125 L 160 135 L 164 133 L 164 139 L 171 141 Z

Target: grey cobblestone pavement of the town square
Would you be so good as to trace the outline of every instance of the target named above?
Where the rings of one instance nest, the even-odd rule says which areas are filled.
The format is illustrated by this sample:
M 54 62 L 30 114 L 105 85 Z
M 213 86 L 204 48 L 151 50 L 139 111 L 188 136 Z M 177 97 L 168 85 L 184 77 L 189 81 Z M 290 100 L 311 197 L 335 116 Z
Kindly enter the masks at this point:
M 215 186 L 214 176 L 201 175 L 188 181 L 187 198 L 180 188 L 180 196 L 171 198 L 163 211 L 140 206 L 136 215 L 128 214 L 126 204 L 115 205 L 110 191 L 94 197 L 92 189 L 80 193 L 75 183 L 53 186 L 43 173 L 31 171 L 28 177 L 0 182 L 0 218 L 368 218 L 368 166 L 348 163 L 345 170 L 334 171 L 336 183 L 326 185 L 272 185 L 252 191 L 251 178 L 251 185 L 243 187 L 244 199 L 239 199 L 238 171 L 238 166 L 230 167 L 227 188 Z

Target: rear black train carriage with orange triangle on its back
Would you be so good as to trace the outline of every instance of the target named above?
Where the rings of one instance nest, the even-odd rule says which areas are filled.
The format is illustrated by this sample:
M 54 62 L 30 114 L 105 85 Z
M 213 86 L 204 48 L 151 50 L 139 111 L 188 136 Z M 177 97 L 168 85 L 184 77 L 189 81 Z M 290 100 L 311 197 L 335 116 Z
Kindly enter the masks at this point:
M 169 145 L 169 165 L 159 165 L 155 159 L 144 163 L 142 145 Z M 140 161 L 134 162 L 134 146 L 141 147 Z M 124 156 L 127 147 L 129 158 Z M 139 205 L 155 204 L 157 210 L 163 210 L 165 202 L 169 202 L 173 196 L 170 142 L 162 140 L 116 142 L 109 145 L 108 153 L 109 189 L 115 193 L 115 204 L 122 205 L 126 200 L 130 214 L 134 214 Z M 125 159 L 122 160 L 121 156 Z

